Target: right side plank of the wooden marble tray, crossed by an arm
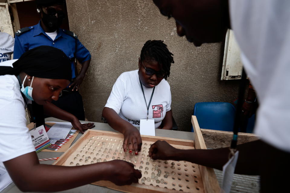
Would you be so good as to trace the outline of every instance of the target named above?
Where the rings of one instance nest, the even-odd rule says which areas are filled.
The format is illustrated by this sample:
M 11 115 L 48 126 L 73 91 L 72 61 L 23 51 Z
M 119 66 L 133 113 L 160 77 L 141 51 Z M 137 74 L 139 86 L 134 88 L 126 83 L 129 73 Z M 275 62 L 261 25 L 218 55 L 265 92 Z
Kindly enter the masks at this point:
M 191 122 L 195 133 L 195 149 L 207 149 L 196 116 L 192 115 Z M 205 193 L 221 192 L 221 188 L 218 184 L 218 180 L 214 173 L 214 169 L 201 165 L 199 165 L 199 169 L 201 173 L 202 182 L 205 188 Z

